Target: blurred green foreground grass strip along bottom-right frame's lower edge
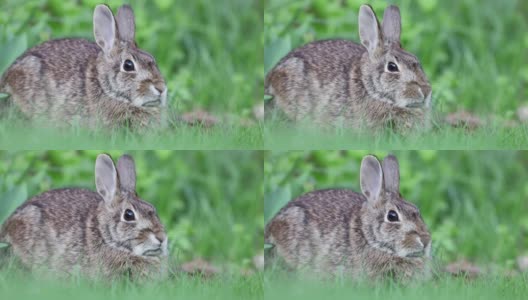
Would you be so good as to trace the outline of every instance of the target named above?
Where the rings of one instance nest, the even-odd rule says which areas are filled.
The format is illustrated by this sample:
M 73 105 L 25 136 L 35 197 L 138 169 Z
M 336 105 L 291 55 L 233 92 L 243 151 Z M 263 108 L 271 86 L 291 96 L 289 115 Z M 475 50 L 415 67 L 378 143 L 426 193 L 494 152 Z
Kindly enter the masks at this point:
M 476 280 L 441 276 L 425 283 L 403 286 L 393 282 L 358 284 L 350 280 L 301 281 L 266 273 L 265 299 L 526 299 L 528 277 L 487 275 Z

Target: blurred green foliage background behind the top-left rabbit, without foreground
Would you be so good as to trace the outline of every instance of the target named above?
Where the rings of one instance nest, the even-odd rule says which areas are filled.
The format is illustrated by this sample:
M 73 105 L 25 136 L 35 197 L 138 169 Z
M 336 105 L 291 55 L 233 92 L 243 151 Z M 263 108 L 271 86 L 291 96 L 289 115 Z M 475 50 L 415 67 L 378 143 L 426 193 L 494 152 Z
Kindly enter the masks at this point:
M 248 117 L 261 101 L 262 0 L 2 0 L 0 73 L 43 41 L 93 41 L 92 15 L 100 3 L 114 13 L 131 4 L 137 43 L 156 58 L 172 108 Z

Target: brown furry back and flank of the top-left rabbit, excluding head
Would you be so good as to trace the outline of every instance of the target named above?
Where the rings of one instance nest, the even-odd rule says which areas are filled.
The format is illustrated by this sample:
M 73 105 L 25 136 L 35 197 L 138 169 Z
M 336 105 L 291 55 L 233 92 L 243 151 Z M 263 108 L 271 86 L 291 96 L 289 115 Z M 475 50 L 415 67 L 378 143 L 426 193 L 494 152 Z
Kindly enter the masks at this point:
M 83 39 L 59 39 L 26 51 L 6 71 L 3 91 L 26 116 L 73 119 L 91 113 L 79 103 L 94 89 L 100 49 Z M 92 69 L 90 69 L 92 68 Z M 91 80 L 90 80 L 91 79 Z

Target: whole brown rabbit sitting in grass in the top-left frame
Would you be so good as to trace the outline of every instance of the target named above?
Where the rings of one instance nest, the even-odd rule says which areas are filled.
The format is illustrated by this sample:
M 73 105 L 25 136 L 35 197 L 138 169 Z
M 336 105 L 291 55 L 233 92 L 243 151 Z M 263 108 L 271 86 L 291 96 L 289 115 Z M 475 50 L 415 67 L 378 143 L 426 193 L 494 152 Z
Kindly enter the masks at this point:
M 148 128 L 161 125 L 167 86 L 152 55 L 135 42 L 128 5 L 114 18 L 106 5 L 93 15 L 95 43 L 50 40 L 27 50 L 0 80 L 30 120 L 53 125 Z

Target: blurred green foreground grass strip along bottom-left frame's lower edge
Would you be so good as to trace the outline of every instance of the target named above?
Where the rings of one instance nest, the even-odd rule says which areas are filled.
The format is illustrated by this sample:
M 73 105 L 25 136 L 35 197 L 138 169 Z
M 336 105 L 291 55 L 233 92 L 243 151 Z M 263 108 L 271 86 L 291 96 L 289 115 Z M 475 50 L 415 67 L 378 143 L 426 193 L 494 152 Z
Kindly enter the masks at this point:
M 138 285 L 126 280 L 93 283 L 80 278 L 32 278 L 9 268 L 0 270 L 2 299 L 262 299 L 262 275 L 224 274 L 214 278 L 179 274 L 158 283 Z

